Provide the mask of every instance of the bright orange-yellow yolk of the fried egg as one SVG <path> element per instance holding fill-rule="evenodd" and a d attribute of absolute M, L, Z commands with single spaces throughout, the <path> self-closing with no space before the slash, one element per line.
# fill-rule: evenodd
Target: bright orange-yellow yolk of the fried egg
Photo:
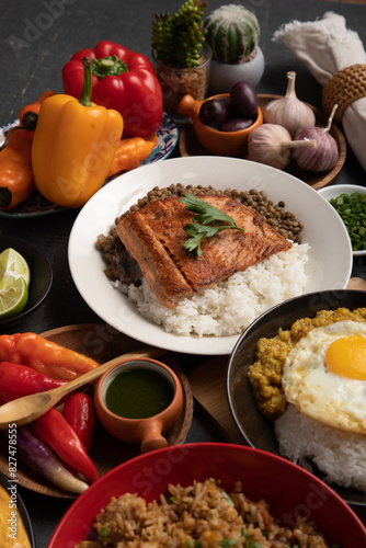
<path fill-rule="evenodd" d="M 325 366 L 336 375 L 366 380 L 366 339 L 351 335 L 332 342 L 325 352 Z"/>

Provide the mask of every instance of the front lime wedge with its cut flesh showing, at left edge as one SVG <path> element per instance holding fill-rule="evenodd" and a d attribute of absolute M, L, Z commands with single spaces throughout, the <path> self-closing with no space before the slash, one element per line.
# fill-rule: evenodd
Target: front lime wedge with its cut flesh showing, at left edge
<path fill-rule="evenodd" d="M 0 320 L 21 313 L 28 298 L 28 288 L 23 277 L 4 274 L 0 278 Z"/>

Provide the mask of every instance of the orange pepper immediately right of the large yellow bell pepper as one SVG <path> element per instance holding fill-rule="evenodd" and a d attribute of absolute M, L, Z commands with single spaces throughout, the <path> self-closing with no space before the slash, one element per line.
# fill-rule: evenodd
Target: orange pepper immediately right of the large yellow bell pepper
<path fill-rule="evenodd" d="M 108 176 L 115 175 L 119 171 L 129 171 L 137 168 L 148 158 L 157 142 L 157 134 L 152 134 L 149 139 L 142 139 L 142 137 L 122 139 L 111 165 Z"/>

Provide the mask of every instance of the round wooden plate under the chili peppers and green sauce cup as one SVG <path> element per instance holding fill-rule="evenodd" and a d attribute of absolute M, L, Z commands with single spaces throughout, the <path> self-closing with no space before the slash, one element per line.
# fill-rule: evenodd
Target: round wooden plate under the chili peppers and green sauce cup
<path fill-rule="evenodd" d="M 106 323 L 85 323 L 66 326 L 42 333 L 42 336 L 61 344 L 68 349 L 85 354 L 99 363 L 105 363 L 126 352 L 144 349 L 147 345 L 119 333 Z M 184 443 L 193 418 L 193 396 L 185 373 L 176 359 L 169 353 L 164 354 L 163 362 L 176 374 L 183 389 L 183 410 L 173 426 L 167 434 L 169 445 Z M 9 447 L 5 436 L 0 436 L 0 470 L 9 477 Z M 101 424 L 98 425 L 92 446 L 89 452 L 98 471 L 104 476 L 116 466 L 140 455 L 139 445 L 119 442 L 108 434 Z M 18 455 L 16 479 L 19 484 L 49 496 L 75 499 L 75 493 L 62 491 L 34 473 Z"/>

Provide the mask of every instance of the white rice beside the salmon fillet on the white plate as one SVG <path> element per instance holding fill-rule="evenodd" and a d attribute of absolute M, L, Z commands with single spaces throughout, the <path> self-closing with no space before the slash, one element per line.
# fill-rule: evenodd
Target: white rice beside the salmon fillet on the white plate
<path fill-rule="evenodd" d="M 161 305 L 145 278 L 139 287 L 121 289 L 137 305 L 141 316 L 167 332 L 198 336 L 240 334 L 268 308 L 304 294 L 309 249 L 308 243 L 294 243 L 290 250 L 236 273 L 172 309 Z"/>

